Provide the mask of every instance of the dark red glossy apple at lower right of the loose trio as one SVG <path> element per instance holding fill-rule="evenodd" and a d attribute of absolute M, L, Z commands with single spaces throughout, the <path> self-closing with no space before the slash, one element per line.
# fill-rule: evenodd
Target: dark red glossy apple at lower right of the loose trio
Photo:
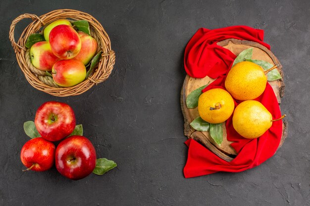
<path fill-rule="evenodd" d="M 59 143 L 55 165 L 63 176 L 78 180 L 88 176 L 96 166 L 96 151 L 84 136 L 70 136 Z"/>

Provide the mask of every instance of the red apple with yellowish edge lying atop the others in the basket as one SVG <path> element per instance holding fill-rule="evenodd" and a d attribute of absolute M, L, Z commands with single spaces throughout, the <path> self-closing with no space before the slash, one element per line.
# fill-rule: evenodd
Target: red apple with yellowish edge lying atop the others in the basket
<path fill-rule="evenodd" d="M 55 26 L 50 32 L 52 52 L 60 59 L 72 59 L 81 50 L 78 33 L 68 25 Z"/>

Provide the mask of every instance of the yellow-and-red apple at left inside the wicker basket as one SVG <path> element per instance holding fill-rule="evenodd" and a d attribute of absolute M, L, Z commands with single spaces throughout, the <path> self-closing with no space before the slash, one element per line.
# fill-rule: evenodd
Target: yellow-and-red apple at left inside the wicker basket
<path fill-rule="evenodd" d="M 30 48 L 30 59 L 32 65 L 42 71 L 51 71 L 52 66 L 59 60 L 51 49 L 49 41 L 39 41 Z"/>

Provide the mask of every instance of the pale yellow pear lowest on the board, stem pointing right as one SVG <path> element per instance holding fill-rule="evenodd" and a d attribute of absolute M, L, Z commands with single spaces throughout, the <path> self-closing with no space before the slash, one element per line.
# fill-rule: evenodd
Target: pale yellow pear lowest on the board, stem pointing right
<path fill-rule="evenodd" d="M 277 120 L 284 117 L 285 115 Z M 272 122 L 277 121 L 272 120 L 270 112 L 255 100 L 241 102 L 235 108 L 232 120 L 235 130 L 248 139 L 260 137 L 271 127 Z"/>

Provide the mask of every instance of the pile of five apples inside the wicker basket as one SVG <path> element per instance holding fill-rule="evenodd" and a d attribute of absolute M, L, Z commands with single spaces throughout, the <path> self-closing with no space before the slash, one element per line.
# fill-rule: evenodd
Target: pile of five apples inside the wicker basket
<path fill-rule="evenodd" d="M 74 86 L 86 78 L 86 67 L 97 51 L 97 41 L 90 35 L 76 31 L 70 21 L 59 19 L 44 29 L 46 41 L 30 48 L 34 67 L 52 71 L 59 86 Z"/>

